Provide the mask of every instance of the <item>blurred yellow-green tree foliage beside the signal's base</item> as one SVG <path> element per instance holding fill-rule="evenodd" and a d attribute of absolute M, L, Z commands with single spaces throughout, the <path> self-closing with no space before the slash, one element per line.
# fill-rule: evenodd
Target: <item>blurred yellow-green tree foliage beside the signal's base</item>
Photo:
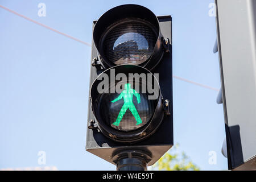
<path fill-rule="evenodd" d="M 177 152 L 177 148 L 179 148 L 179 144 L 166 152 L 152 169 L 159 171 L 199 171 L 200 168 L 189 159 L 185 152 Z"/>

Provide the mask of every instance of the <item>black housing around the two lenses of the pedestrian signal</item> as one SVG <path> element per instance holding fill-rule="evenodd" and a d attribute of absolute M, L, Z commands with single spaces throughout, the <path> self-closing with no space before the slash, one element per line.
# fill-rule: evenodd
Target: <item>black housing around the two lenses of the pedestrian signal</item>
<path fill-rule="evenodd" d="M 131 11 L 131 9 L 133 11 Z M 137 13 L 136 13 L 137 12 Z M 141 13 L 138 13 L 141 12 Z M 97 82 L 96 78 L 103 72 L 108 72 L 109 68 L 117 67 L 123 69 L 125 65 L 116 65 L 110 63 L 107 56 L 102 51 L 100 42 L 104 39 L 104 30 L 108 30 L 110 25 L 118 21 L 122 23 L 123 18 L 146 19 L 155 24 L 157 40 L 154 46 L 153 54 L 144 63 L 138 64 L 145 72 L 159 74 L 160 95 L 158 106 L 162 114 L 157 115 L 154 129 L 140 135 L 140 137 L 131 139 L 126 137 L 115 138 L 110 127 L 102 126 L 99 122 L 100 108 L 93 102 L 98 101 L 97 90 L 93 84 Z M 108 17 L 108 18 L 106 18 Z M 154 19 L 155 18 L 155 19 Z M 105 21 L 104 21 L 105 20 Z M 96 27 L 98 26 L 98 27 Z M 122 5 L 109 10 L 104 16 L 93 22 L 93 40 L 92 40 L 92 63 L 90 64 L 90 98 L 88 106 L 88 129 L 86 136 L 86 151 L 107 160 L 110 163 L 117 164 L 119 158 L 125 158 L 130 154 L 143 158 L 148 166 L 154 164 L 174 143 L 173 140 L 173 116 L 172 116 L 172 19 L 170 15 L 156 16 L 148 9 L 139 5 Z M 100 36 L 97 36 L 100 35 Z M 155 60 L 155 62 L 154 62 Z M 126 65 L 134 71 L 135 65 Z M 133 68 L 134 67 L 134 68 Z M 143 68 L 144 67 L 144 68 Z M 147 70 L 146 70 L 147 69 Z M 129 71 L 127 71 L 129 72 Z M 163 98 L 163 99 L 162 99 Z M 160 111 L 159 111 L 160 112 Z M 164 114 L 166 113 L 166 114 Z M 157 122 L 158 121 L 158 122 Z M 162 122 L 161 122 L 162 121 Z M 158 124 L 157 124 L 158 123 Z M 114 131 L 114 130 L 112 130 Z M 136 130 L 138 131 L 138 130 Z M 143 130 L 144 131 L 144 130 Z M 115 131 L 117 132 L 117 131 Z M 127 133 L 129 133 L 127 131 Z M 135 132 L 136 133 L 136 132 Z M 137 132 L 138 134 L 139 132 Z M 112 135 L 112 136 L 111 136 Z M 128 154 L 129 153 L 129 154 Z M 142 157 L 143 156 L 143 157 Z"/>

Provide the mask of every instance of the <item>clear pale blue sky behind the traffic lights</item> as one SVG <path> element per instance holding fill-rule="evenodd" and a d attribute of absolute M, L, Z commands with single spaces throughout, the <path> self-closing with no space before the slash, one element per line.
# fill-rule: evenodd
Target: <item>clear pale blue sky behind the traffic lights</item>
<path fill-rule="evenodd" d="M 46 17 L 38 4 L 46 4 Z M 136 3 L 156 15 L 172 15 L 173 73 L 220 88 L 213 0 L 4 1 L 14 10 L 84 42 L 92 21 L 114 6 Z M 71 170 L 115 170 L 85 151 L 90 47 L 0 8 L 0 168 L 35 167 L 46 151 L 46 166 Z M 217 91 L 174 78 L 174 140 L 204 170 L 227 169 Z M 217 164 L 210 165 L 209 151 Z"/>

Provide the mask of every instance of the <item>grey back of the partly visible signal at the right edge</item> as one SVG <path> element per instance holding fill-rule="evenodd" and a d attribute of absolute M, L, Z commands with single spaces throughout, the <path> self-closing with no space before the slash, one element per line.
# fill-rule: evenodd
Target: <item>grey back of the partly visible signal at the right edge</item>
<path fill-rule="evenodd" d="M 215 0 L 217 43 L 226 139 L 232 170 L 256 169 L 256 1 Z"/>

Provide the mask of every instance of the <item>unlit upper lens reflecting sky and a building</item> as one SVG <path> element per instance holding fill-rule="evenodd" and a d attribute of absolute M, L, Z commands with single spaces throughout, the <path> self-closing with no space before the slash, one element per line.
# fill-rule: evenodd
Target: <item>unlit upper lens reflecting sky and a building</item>
<path fill-rule="evenodd" d="M 152 55 L 157 35 L 139 20 L 127 20 L 106 34 L 103 49 L 106 58 L 117 65 L 141 64 Z"/>

